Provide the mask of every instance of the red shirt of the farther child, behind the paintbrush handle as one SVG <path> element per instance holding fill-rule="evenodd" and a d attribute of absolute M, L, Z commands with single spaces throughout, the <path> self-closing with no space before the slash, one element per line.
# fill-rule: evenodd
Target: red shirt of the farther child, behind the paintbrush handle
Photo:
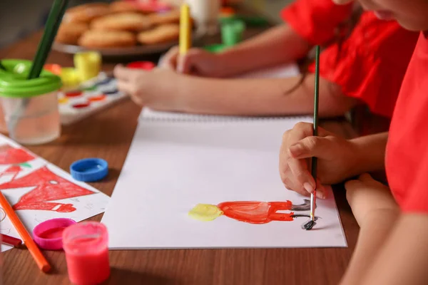
<path fill-rule="evenodd" d="M 342 86 L 345 95 L 359 98 L 373 113 L 391 118 L 418 33 L 366 11 L 339 51 L 338 27 L 351 14 L 352 4 L 335 5 L 332 0 L 297 0 L 281 12 L 309 43 L 331 43 L 320 56 L 322 78 Z M 309 71 L 315 71 L 313 64 Z"/>

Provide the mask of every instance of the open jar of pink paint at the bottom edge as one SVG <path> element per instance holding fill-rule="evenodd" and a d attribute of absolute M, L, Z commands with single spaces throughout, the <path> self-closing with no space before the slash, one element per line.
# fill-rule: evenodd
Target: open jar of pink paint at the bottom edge
<path fill-rule="evenodd" d="M 108 232 L 99 222 L 83 222 L 63 232 L 68 278 L 73 284 L 100 284 L 110 276 Z"/>

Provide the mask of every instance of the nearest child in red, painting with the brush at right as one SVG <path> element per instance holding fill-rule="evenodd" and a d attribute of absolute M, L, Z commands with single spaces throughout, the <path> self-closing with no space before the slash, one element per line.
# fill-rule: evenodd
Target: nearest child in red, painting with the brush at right
<path fill-rule="evenodd" d="M 390 190 L 367 174 L 345 184 L 360 235 L 342 284 L 428 284 L 428 1 L 360 2 L 379 19 L 422 31 L 389 136 L 343 140 L 321 129 L 315 138 L 312 125 L 300 123 L 284 135 L 280 174 L 287 187 L 307 195 L 315 187 L 322 192 L 322 185 L 386 166 Z M 317 184 L 307 169 L 306 160 L 313 156 L 320 162 Z"/>

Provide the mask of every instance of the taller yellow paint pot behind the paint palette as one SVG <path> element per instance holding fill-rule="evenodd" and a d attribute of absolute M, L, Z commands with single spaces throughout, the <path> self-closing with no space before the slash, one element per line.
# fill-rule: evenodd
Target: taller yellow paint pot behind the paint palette
<path fill-rule="evenodd" d="M 101 71 L 101 53 L 96 51 L 76 53 L 73 61 L 78 80 L 81 82 L 98 76 Z"/>

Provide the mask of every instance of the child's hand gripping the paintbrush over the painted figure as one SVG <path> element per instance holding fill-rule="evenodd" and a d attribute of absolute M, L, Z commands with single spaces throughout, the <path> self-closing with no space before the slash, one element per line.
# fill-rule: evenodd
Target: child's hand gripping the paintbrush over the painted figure
<path fill-rule="evenodd" d="M 301 195 L 309 195 L 317 187 L 317 197 L 324 198 L 323 185 L 345 180 L 357 164 L 357 147 L 344 138 L 318 129 L 312 136 L 310 123 L 298 123 L 282 136 L 280 149 L 280 176 L 285 187 Z M 317 184 L 310 173 L 310 157 L 318 157 Z"/>

